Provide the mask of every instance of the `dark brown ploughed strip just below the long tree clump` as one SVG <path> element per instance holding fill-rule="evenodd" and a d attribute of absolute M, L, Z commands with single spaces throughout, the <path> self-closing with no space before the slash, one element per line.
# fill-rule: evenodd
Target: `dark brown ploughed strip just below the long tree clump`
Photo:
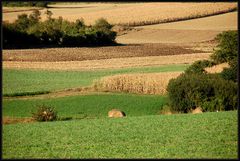
<path fill-rule="evenodd" d="M 204 53 L 188 46 L 169 44 L 131 44 L 106 47 L 45 48 L 3 50 L 3 61 L 82 61 L 127 57 L 166 56 Z"/>

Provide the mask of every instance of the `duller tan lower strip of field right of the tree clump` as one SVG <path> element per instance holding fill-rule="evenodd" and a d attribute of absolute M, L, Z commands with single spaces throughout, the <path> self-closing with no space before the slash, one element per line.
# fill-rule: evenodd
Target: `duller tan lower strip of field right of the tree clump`
<path fill-rule="evenodd" d="M 176 29 L 142 29 L 118 36 L 121 44 L 142 43 L 196 43 L 213 40 L 221 31 L 212 30 L 176 30 Z"/>

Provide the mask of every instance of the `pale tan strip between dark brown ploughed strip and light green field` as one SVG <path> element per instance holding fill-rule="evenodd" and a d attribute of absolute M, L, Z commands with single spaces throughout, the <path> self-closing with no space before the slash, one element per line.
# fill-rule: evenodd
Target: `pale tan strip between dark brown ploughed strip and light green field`
<path fill-rule="evenodd" d="M 62 62 L 3 61 L 3 68 L 42 69 L 42 70 L 118 69 L 168 64 L 190 64 L 197 60 L 209 59 L 209 56 L 211 54 L 212 53 L 194 53 L 170 56 L 150 56 L 150 57 L 116 58 L 86 61 L 62 61 Z"/>

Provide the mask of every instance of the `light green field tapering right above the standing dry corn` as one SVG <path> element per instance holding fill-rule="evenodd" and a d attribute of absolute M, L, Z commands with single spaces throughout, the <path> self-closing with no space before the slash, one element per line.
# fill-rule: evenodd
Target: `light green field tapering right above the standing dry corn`
<path fill-rule="evenodd" d="M 189 65 L 125 68 L 99 71 L 43 71 L 3 69 L 3 95 L 24 95 L 66 88 L 90 86 L 103 76 L 121 73 L 184 71 Z"/>

